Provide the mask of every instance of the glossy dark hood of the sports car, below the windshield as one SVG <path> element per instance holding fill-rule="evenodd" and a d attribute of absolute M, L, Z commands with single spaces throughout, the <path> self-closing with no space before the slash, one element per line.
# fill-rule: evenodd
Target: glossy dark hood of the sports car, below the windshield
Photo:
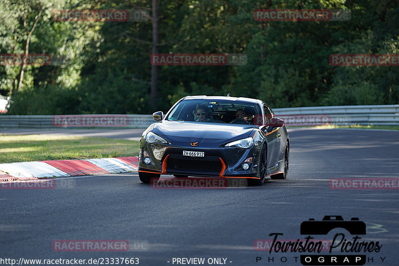
<path fill-rule="evenodd" d="M 153 124 L 151 129 L 168 140 L 173 146 L 217 147 L 230 141 L 249 137 L 255 125 L 163 121 Z M 190 146 L 191 147 L 191 146 Z"/>

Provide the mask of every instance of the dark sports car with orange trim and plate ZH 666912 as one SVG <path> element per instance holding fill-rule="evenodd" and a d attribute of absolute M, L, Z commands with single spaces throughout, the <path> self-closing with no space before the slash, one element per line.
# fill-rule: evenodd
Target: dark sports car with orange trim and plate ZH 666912
<path fill-rule="evenodd" d="M 289 138 L 284 120 L 261 100 L 187 96 L 150 125 L 141 138 L 139 177 L 245 178 L 262 185 L 266 176 L 285 179 Z"/>

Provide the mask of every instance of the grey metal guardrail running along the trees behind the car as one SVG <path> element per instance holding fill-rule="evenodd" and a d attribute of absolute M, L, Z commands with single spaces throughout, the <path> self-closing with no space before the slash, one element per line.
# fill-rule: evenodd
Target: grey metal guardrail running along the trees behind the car
<path fill-rule="evenodd" d="M 287 126 L 399 125 L 399 104 L 276 108 Z M 129 127 L 146 128 L 152 115 L 0 115 L 1 127 Z"/>

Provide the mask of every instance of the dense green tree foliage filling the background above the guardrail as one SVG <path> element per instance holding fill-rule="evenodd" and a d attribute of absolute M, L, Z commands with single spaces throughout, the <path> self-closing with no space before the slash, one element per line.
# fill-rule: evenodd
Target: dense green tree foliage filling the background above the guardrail
<path fill-rule="evenodd" d="M 11 2 L 15 4 L 10 4 Z M 30 53 L 65 56 L 27 66 L 9 114 L 153 113 L 152 21 L 57 22 L 53 9 L 133 9 L 145 0 L 2 0 L 0 51 L 21 53 L 26 30 L 44 10 Z M 350 21 L 256 21 L 255 9 L 350 9 Z M 158 106 L 186 95 L 260 98 L 272 108 L 396 104 L 399 67 L 331 66 L 330 54 L 399 54 L 399 5 L 392 0 L 159 1 L 160 53 L 245 53 L 244 66 L 160 66 Z M 0 66 L 0 94 L 19 66 Z"/>

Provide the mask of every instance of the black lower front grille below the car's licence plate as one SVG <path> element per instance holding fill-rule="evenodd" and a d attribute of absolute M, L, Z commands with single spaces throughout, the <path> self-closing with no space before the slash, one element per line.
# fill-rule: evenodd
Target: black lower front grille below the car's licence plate
<path fill-rule="evenodd" d="M 221 163 L 218 156 L 189 157 L 181 154 L 169 154 L 167 171 L 175 169 L 220 172 Z"/>

